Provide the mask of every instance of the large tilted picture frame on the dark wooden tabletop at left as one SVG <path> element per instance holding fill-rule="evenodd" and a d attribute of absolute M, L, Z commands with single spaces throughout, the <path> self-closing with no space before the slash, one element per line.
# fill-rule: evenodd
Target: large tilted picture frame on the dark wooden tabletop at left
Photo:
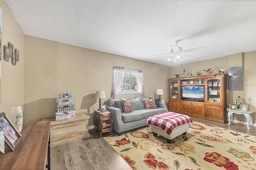
<path fill-rule="evenodd" d="M 0 113 L 0 127 L 4 131 L 4 141 L 13 151 L 22 139 L 22 135 L 4 112 Z"/>

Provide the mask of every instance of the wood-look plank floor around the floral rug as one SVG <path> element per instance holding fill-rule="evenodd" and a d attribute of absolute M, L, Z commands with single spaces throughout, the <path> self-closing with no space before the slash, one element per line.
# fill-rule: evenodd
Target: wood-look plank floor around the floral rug
<path fill-rule="evenodd" d="M 256 136 L 256 127 L 239 123 L 220 124 L 191 117 L 193 121 L 210 124 L 236 132 Z M 98 130 L 90 129 L 90 138 L 70 142 L 51 148 L 51 170 L 132 170 L 121 156 L 106 142 L 100 138 Z M 115 133 L 113 131 L 113 133 Z M 125 132 L 124 132 L 125 133 Z"/>

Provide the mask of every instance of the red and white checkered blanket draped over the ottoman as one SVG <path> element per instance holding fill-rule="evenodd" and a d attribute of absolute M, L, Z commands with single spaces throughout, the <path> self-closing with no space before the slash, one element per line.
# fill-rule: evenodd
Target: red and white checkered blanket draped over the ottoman
<path fill-rule="evenodd" d="M 174 128 L 185 123 L 192 125 L 193 121 L 186 115 L 181 115 L 174 112 L 166 112 L 149 117 L 147 123 L 148 125 L 153 125 L 163 129 L 167 134 L 170 135 Z"/>

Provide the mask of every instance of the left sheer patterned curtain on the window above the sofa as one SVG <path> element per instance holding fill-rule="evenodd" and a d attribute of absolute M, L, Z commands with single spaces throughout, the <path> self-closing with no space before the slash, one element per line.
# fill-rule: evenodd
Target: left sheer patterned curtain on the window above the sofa
<path fill-rule="evenodd" d="M 112 90 L 111 90 L 111 99 L 116 98 L 116 91 L 120 89 L 122 86 L 122 82 L 124 80 L 125 68 L 113 66 L 113 76 L 112 76 Z"/>

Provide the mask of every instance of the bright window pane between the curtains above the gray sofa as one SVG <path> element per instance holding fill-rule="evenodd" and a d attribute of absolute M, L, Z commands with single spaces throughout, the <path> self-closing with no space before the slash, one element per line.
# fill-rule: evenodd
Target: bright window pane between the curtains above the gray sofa
<path fill-rule="evenodd" d="M 116 93 L 141 93 L 141 89 L 138 88 L 135 71 L 125 71 L 122 85 Z"/>

